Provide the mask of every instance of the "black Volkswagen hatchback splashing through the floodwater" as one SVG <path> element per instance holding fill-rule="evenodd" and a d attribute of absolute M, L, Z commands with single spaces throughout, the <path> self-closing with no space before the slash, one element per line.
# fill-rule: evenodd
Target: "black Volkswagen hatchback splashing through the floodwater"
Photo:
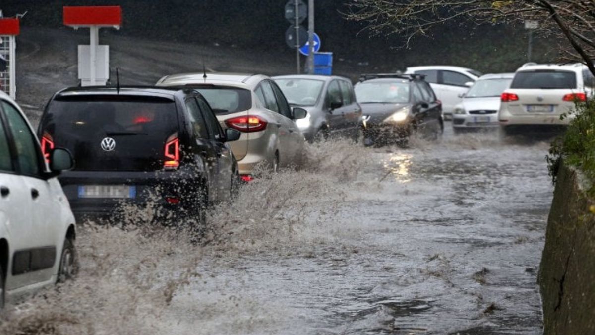
<path fill-rule="evenodd" d="M 229 199 L 239 181 L 226 144 L 239 132 L 223 132 L 192 89 L 65 89 L 46 106 L 38 135 L 44 154 L 61 147 L 74 156 L 60 182 L 79 219 L 117 221 L 142 206 L 155 218 L 202 222 L 205 206 Z"/>

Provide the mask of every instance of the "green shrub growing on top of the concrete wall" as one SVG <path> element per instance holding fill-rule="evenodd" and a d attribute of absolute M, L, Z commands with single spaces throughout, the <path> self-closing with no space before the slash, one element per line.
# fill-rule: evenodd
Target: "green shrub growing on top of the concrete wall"
<path fill-rule="evenodd" d="M 562 118 L 574 116 L 566 132 L 552 143 L 549 155 L 549 173 L 556 182 L 556 173 L 562 160 L 565 165 L 581 170 L 590 182 L 587 193 L 595 195 L 595 100 L 577 103 L 574 111 Z"/>

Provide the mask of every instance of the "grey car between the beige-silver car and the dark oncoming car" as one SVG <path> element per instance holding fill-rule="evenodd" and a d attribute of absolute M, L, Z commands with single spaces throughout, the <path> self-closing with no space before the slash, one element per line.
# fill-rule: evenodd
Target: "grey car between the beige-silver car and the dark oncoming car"
<path fill-rule="evenodd" d="M 359 138 L 362 108 L 349 79 L 339 76 L 292 75 L 273 77 L 292 106 L 308 115 L 297 126 L 308 141 L 342 135 Z"/>

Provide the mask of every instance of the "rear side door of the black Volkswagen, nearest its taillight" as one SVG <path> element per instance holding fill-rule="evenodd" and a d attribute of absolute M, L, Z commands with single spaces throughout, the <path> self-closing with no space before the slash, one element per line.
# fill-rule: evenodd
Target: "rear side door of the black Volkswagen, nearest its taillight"
<path fill-rule="evenodd" d="M 187 98 L 186 108 L 190 119 L 190 126 L 192 126 L 193 147 L 192 150 L 196 156 L 201 157 L 205 166 L 205 173 L 207 179 L 207 187 L 209 191 L 209 201 L 216 201 L 218 199 L 217 184 L 217 152 L 212 145 L 206 121 L 202 116 L 201 110 L 194 97 Z"/>

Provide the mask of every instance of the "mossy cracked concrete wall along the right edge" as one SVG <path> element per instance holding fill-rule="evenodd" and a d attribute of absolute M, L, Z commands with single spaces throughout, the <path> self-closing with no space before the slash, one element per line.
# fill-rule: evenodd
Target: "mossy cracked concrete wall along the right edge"
<path fill-rule="evenodd" d="M 562 166 L 547 222 L 539 284 L 544 334 L 595 334 L 595 203 Z"/>

